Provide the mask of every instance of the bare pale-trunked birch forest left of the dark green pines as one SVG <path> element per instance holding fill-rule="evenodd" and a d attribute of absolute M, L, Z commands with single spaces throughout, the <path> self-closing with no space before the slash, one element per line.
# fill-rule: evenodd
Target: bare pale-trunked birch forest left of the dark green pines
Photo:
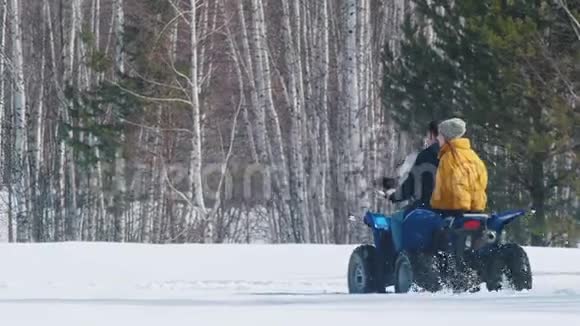
<path fill-rule="evenodd" d="M 382 95 L 410 0 L 0 4 L 8 241 L 362 241 L 422 146 Z"/>

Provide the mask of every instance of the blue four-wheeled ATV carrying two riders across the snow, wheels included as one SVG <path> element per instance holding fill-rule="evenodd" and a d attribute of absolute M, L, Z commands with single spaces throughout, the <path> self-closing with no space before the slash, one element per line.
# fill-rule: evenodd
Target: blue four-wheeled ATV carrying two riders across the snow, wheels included
<path fill-rule="evenodd" d="M 393 216 L 367 212 L 374 245 L 354 250 L 348 265 L 350 293 L 489 291 L 532 288 L 524 249 L 505 243 L 504 228 L 524 211 L 445 216 L 418 208 Z"/>

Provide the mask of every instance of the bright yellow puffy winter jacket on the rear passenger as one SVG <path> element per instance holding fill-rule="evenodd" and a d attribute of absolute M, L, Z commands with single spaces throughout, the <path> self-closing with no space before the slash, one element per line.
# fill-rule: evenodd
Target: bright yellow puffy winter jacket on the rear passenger
<path fill-rule="evenodd" d="M 453 139 L 445 144 L 439 151 L 439 160 L 431 207 L 440 210 L 485 211 L 487 169 L 471 149 L 469 139 Z"/>

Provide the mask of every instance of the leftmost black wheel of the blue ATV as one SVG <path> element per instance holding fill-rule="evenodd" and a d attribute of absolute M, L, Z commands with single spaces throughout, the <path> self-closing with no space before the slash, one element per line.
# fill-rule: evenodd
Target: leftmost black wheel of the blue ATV
<path fill-rule="evenodd" d="M 377 292 L 374 275 L 376 256 L 376 248 L 371 245 L 359 246 L 352 252 L 348 262 L 349 293 Z"/>

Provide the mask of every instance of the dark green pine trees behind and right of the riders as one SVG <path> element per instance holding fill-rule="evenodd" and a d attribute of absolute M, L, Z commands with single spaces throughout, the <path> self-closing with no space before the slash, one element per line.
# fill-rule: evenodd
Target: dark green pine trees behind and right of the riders
<path fill-rule="evenodd" d="M 576 245 L 580 2 L 417 0 L 385 105 L 402 126 L 461 116 L 492 173 L 490 206 L 535 211 L 513 232 Z M 402 105 L 405 103 L 405 105 Z"/>

